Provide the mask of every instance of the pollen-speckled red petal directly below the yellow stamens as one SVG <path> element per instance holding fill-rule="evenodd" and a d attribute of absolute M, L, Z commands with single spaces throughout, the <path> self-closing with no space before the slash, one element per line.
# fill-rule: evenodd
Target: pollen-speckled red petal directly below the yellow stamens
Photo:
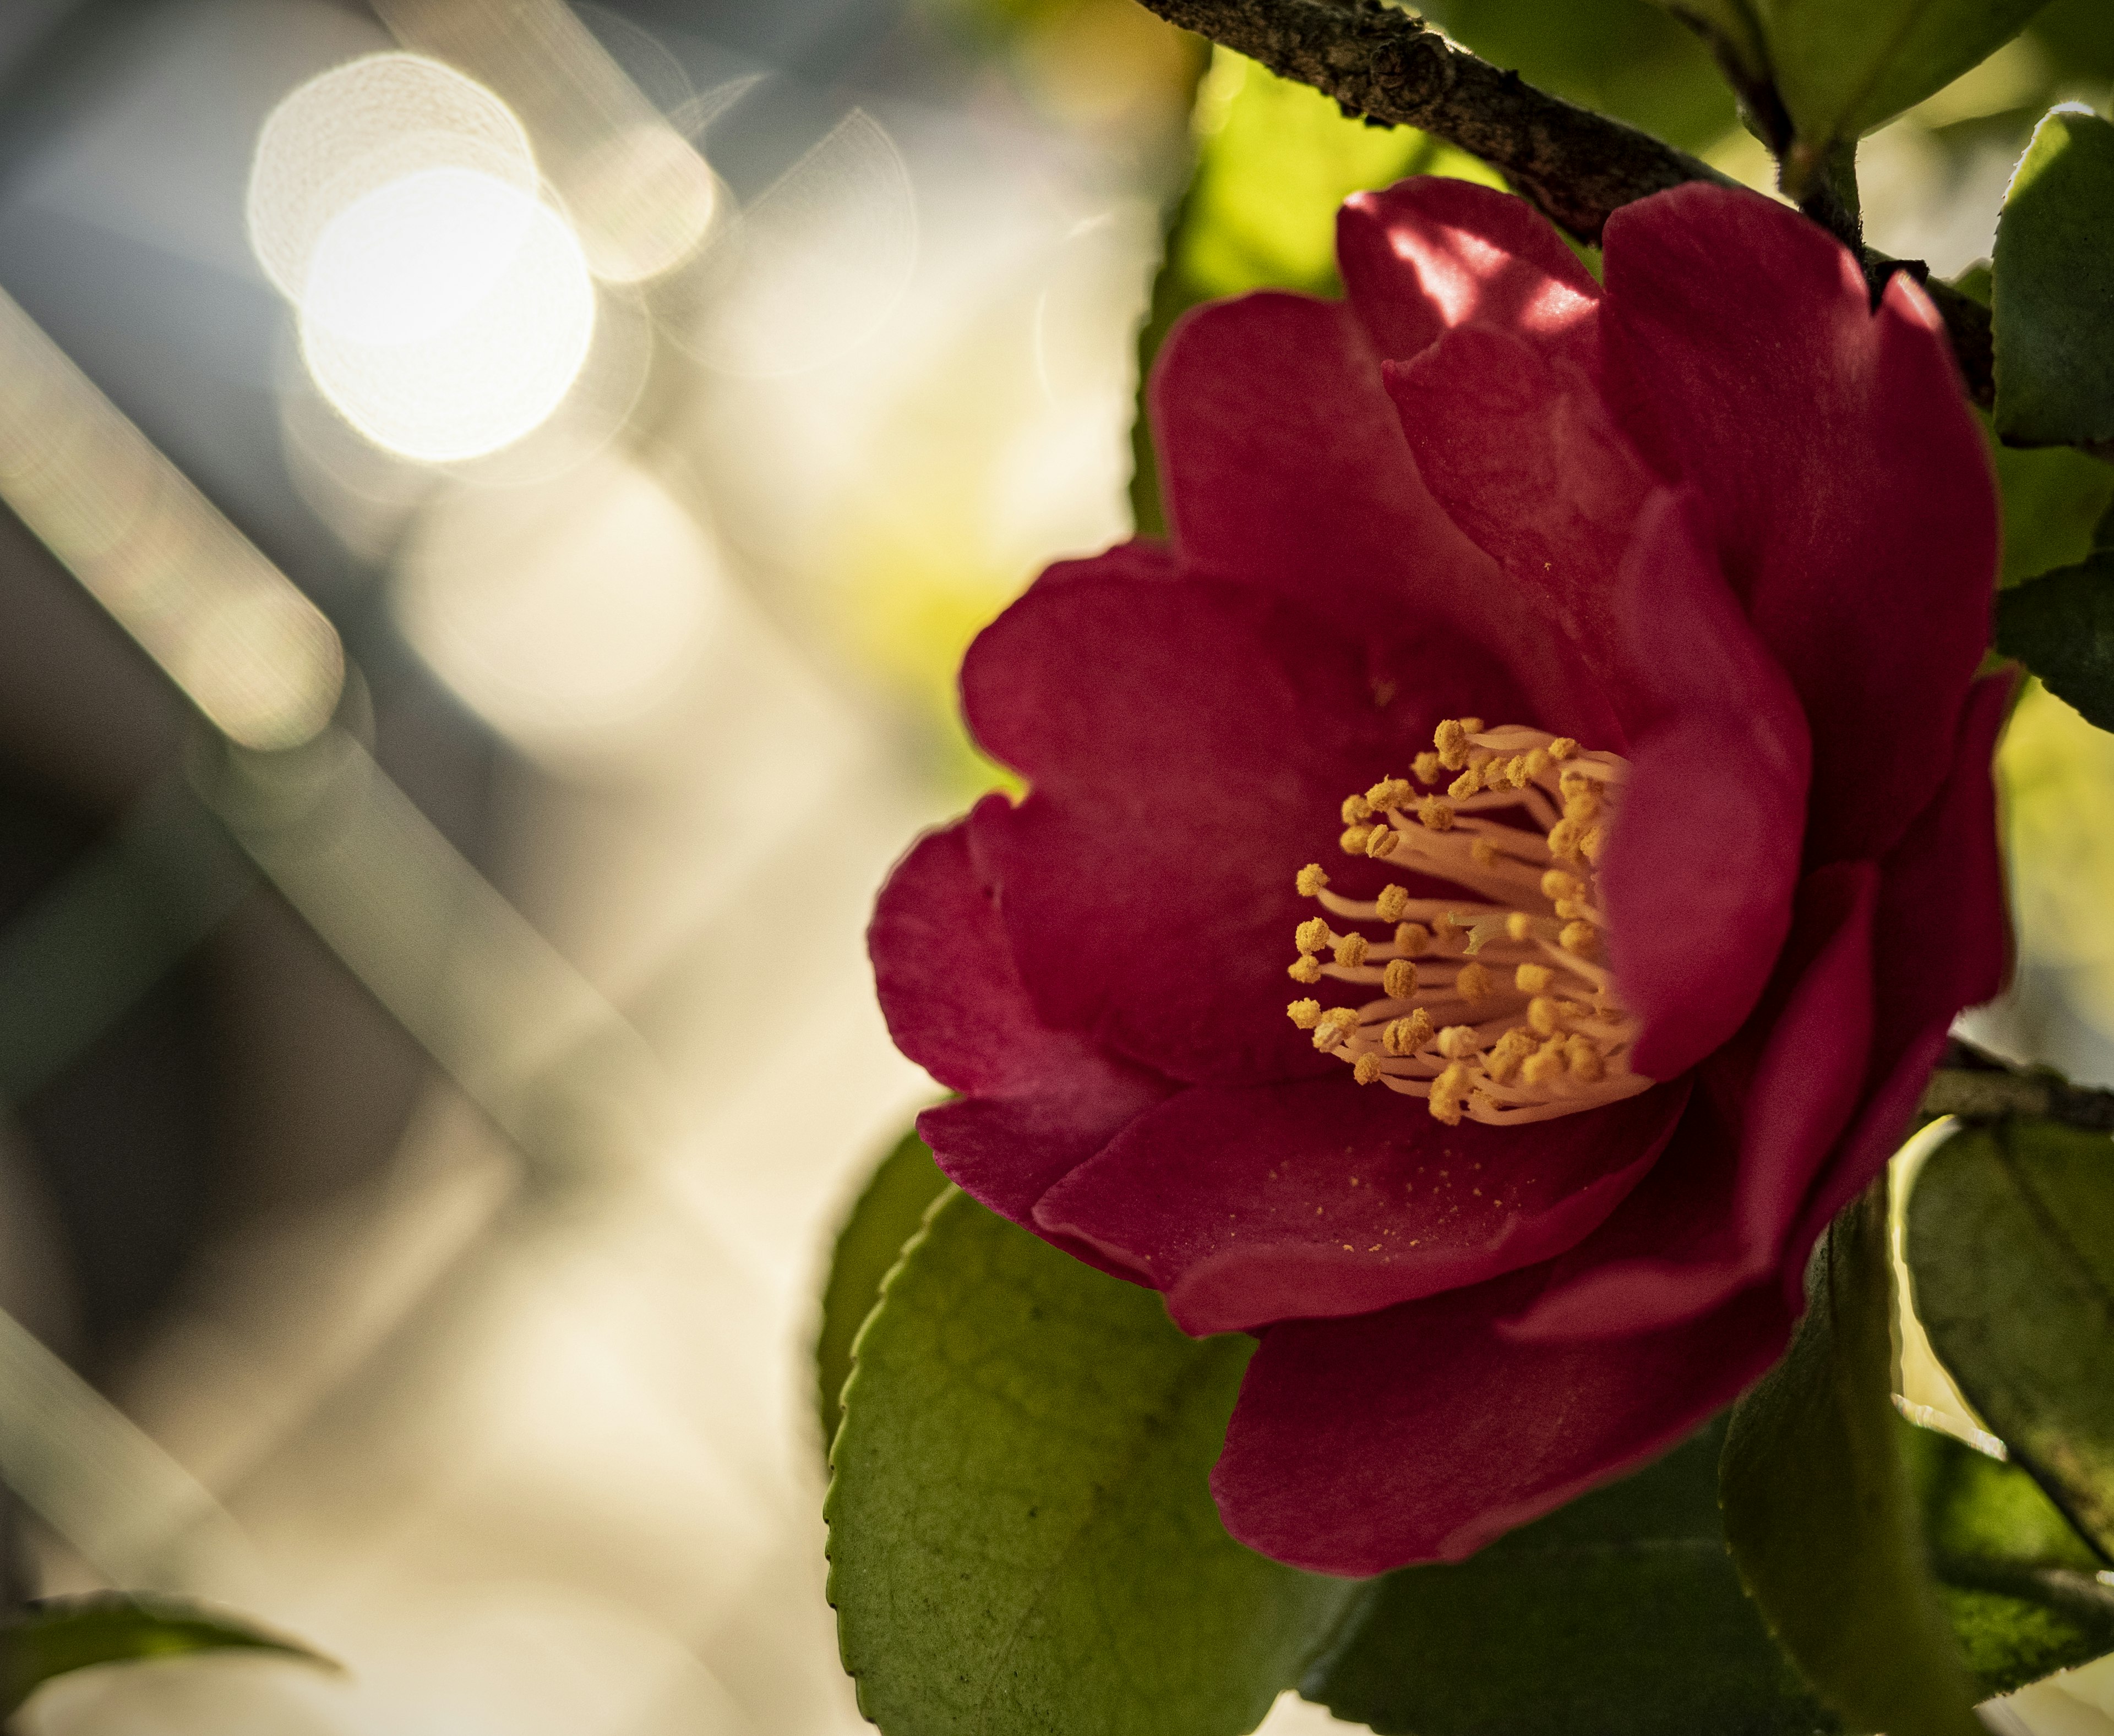
<path fill-rule="evenodd" d="M 1036 1206 L 1051 1233 L 1152 1273 L 1186 1333 L 1368 1314 L 1562 1252 L 1651 1168 L 1687 1083 L 1486 1128 L 1334 1079 L 1199 1086 Z"/>

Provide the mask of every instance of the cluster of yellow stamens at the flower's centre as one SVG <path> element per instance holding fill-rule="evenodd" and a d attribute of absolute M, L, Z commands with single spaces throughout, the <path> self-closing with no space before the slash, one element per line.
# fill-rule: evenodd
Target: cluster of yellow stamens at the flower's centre
<path fill-rule="evenodd" d="M 1347 796 L 1342 849 L 1450 881 L 1461 898 L 1389 885 L 1361 902 L 1306 864 L 1300 895 L 1328 917 L 1300 923 L 1292 978 L 1378 984 L 1380 999 L 1294 1001 L 1292 1022 L 1357 1083 L 1421 1096 L 1448 1126 L 1463 1115 L 1499 1128 L 1547 1121 L 1649 1090 L 1630 1071 L 1636 1018 L 1600 963 L 1600 847 L 1630 762 L 1482 718 L 1448 718 L 1433 743 L 1414 773 L 1446 794 L 1383 777 Z M 1492 811 L 1509 815 L 1486 819 Z M 1366 925 L 1387 925 L 1385 938 Z"/>

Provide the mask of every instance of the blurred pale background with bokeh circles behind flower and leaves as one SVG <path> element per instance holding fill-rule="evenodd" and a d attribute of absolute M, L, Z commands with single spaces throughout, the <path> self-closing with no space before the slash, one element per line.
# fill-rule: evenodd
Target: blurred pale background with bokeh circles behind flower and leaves
<path fill-rule="evenodd" d="M 1645 0 L 1431 11 L 1767 184 Z M 1867 144 L 1871 239 L 1970 268 L 2110 89 L 2057 0 Z M 1131 0 L 0 8 L 0 1578 L 349 1666 L 25 1730 L 860 1728 L 814 1297 L 932 1096 L 863 925 L 991 777 L 968 636 L 1133 524 L 1199 152 L 1184 294 L 1476 173 Z M 2002 465 L 2008 574 L 2076 560 L 2114 471 Z M 1977 1031 L 2114 1081 L 2114 743 L 2029 693 L 2004 775 Z"/>

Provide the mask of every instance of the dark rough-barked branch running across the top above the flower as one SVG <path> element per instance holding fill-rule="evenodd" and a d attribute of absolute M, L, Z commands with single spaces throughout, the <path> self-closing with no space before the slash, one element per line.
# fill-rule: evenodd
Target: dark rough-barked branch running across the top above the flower
<path fill-rule="evenodd" d="M 1383 0 L 1142 0 L 1271 72 L 1313 84 L 1345 114 L 1416 127 L 1480 156 L 1558 228 L 1598 243 L 1609 215 L 1634 199 L 1681 186 L 1733 186 L 1702 158 L 1674 150 L 1562 97 L 1537 91 Z M 1896 268 L 1865 253 L 1875 283 Z M 1994 397 L 1989 310 L 1941 283 L 1924 285 L 1945 319 L 1977 403 Z"/>

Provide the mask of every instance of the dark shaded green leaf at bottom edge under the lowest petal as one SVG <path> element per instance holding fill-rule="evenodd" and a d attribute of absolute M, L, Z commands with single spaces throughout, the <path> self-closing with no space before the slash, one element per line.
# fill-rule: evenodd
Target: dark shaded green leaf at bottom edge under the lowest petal
<path fill-rule="evenodd" d="M 1740 1590 L 1725 1421 L 1452 1567 L 1380 1580 L 1300 1692 L 1383 1736 L 1835 1730 Z"/>

